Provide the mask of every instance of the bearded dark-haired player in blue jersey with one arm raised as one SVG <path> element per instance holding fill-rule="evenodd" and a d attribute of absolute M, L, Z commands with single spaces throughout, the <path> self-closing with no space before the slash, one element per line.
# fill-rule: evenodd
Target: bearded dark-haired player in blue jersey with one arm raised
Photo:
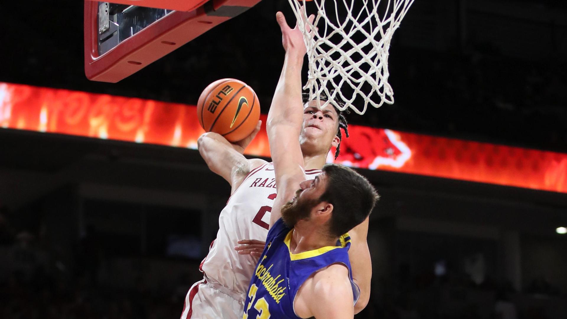
<path fill-rule="evenodd" d="M 300 146 L 306 48 L 297 26 L 291 29 L 281 12 L 277 20 L 286 55 L 267 131 L 278 193 L 243 318 L 353 318 L 359 290 L 345 233 L 367 220 L 378 194 L 342 165 L 327 164 L 315 179 L 306 177 Z"/>

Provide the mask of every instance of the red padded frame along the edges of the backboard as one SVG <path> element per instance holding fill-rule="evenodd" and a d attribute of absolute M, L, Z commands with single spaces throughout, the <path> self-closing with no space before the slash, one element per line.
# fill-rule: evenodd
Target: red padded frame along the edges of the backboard
<path fill-rule="evenodd" d="M 185 1 L 185 5 L 199 6 L 191 11 L 175 11 L 164 16 L 100 56 L 97 40 L 98 2 L 84 1 L 84 73 L 92 81 L 116 83 L 260 1 Z M 139 6 L 142 2 L 147 5 L 151 0 L 118 2 L 131 2 Z M 181 2 L 161 1 L 164 5 Z"/>

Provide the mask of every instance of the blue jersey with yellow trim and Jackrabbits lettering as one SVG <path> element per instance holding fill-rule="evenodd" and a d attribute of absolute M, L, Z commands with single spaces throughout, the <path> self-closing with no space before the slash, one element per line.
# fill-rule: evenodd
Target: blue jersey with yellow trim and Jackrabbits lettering
<path fill-rule="evenodd" d="M 282 219 L 270 228 L 266 246 L 250 280 L 243 319 L 299 318 L 293 309 L 295 294 L 315 271 L 333 263 L 343 263 L 349 269 L 353 304 L 358 300 L 360 293 L 352 279 L 348 255 L 349 235 L 341 236 L 336 246 L 292 254 L 289 248 L 291 230 Z"/>

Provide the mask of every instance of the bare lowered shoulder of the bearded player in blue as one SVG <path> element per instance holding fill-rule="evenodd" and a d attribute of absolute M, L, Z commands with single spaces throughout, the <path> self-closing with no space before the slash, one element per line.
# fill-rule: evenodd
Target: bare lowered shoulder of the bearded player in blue
<path fill-rule="evenodd" d="M 307 297 L 307 307 L 317 319 L 354 318 L 353 291 L 350 286 L 348 269 L 335 264 L 318 272 Z"/>

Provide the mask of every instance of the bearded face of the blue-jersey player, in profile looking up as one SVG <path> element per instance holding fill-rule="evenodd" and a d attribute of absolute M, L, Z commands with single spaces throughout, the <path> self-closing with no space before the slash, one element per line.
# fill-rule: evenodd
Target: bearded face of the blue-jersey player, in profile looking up
<path fill-rule="evenodd" d="M 311 211 L 321 203 L 321 195 L 325 192 L 327 175 L 318 175 L 315 179 L 303 181 L 294 198 L 281 209 L 282 218 L 287 226 L 293 227 L 298 221 L 308 219 Z"/>

